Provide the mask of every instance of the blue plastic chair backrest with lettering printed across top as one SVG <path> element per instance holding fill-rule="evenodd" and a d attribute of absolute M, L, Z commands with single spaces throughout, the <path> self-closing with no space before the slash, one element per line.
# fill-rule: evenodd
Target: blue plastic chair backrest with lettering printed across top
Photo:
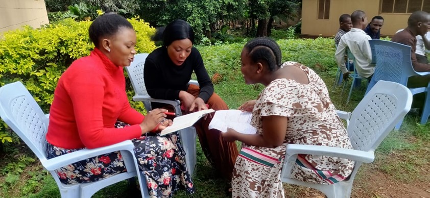
<path fill-rule="evenodd" d="M 408 78 L 416 75 L 411 62 L 411 46 L 385 40 L 369 40 L 375 57 L 372 81 L 391 81 L 407 85 Z"/>

